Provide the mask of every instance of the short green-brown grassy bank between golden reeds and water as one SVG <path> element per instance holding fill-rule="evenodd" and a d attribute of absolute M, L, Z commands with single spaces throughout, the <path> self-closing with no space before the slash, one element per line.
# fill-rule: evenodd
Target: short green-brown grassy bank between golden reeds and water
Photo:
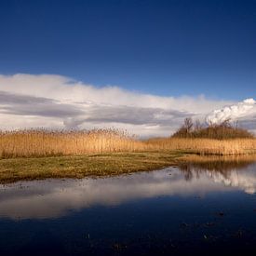
<path fill-rule="evenodd" d="M 180 156 L 147 152 L 1 159 L 0 182 L 119 175 L 177 165 Z"/>

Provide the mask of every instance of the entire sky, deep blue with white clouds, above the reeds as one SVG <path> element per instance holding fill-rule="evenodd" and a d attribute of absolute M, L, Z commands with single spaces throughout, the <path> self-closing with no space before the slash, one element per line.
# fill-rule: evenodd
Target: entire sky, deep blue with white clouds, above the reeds
<path fill-rule="evenodd" d="M 255 0 L 2 0 L 0 128 L 168 135 L 242 104 L 254 130 L 255 27 Z"/>

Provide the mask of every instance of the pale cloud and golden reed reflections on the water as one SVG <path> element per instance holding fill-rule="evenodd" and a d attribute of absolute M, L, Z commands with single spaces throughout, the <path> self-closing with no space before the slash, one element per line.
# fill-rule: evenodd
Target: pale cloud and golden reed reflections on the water
<path fill-rule="evenodd" d="M 44 219 L 94 206 L 118 206 L 156 196 L 206 196 L 256 191 L 254 156 L 187 158 L 165 168 L 106 179 L 46 180 L 0 186 L 0 218 Z"/>

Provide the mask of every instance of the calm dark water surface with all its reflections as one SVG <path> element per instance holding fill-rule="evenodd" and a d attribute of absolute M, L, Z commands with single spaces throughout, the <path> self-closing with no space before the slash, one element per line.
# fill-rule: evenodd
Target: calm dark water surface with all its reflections
<path fill-rule="evenodd" d="M 255 193 L 237 159 L 1 185 L 0 255 L 255 255 Z"/>

